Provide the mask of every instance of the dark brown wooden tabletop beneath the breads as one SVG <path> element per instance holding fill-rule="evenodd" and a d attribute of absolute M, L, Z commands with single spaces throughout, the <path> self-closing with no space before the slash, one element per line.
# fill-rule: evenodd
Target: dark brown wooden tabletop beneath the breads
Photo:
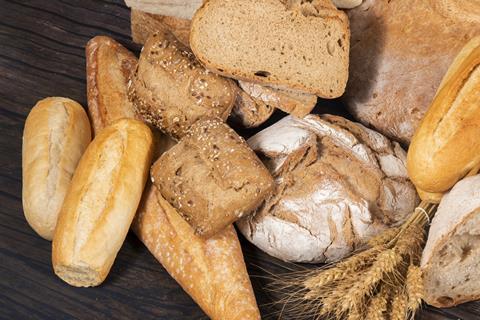
<path fill-rule="evenodd" d="M 109 35 L 130 40 L 121 0 L 0 0 L 0 319 L 205 319 L 135 236 L 129 235 L 100 287 L 73 288 L 52 271 L 50 242 L 26 223 L 21 201 L 25 118 L 37 100 L 65 96 L 86 105 L 86 42 Z M 282 264 L 242 239 L 264 317 L 276 310 L 262 288 L 265 271 Z M 419 319 L 480 319 L 480 303 L 425 307 Z"/>

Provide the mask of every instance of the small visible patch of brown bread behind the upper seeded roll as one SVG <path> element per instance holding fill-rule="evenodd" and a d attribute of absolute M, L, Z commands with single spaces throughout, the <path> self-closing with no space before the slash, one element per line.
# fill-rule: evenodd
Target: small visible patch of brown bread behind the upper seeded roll
<path fill-rule="evenodd" d="M 136 43 L 144 44 L 148 37 L 158 31 L 167 28 L 184 45 L 189 45 L 191 21 L 159 14 L 147 13 L 132 9 L 130 25 L 132 39 Z"/>

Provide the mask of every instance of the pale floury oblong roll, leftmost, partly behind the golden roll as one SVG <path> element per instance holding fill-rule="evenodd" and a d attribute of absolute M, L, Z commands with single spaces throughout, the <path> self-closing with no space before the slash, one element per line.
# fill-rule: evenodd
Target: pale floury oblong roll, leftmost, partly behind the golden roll
<path fill-rule="evenodd" d="M 53 238 L 73 172 L 90 139 L 87 114 L 67 98 L 40 100 L 25 121 L 23 211 L 30 226 L 47 240 Z"/>

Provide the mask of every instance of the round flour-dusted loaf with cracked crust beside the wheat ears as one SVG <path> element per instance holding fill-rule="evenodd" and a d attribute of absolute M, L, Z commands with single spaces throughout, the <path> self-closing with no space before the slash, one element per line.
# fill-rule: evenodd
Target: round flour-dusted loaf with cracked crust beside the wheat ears
<path fill-rule="evenodd" d="M 396 142 L 341 117 L 285 117 L 250 138 L 276 190 L 237 225 L 285 261 L 343 258 L 418 202 Z"/>

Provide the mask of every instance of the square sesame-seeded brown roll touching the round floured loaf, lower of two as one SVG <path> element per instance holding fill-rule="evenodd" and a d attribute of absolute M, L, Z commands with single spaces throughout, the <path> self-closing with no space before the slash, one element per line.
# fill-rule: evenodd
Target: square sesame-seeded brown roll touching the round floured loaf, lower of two
<path fill-rule="evenodd" d="M 205 238 L 251 213 L 273 180 L 246 142 L 220 119 L 196 122 L 152 167 L 152 180 Z"/>

